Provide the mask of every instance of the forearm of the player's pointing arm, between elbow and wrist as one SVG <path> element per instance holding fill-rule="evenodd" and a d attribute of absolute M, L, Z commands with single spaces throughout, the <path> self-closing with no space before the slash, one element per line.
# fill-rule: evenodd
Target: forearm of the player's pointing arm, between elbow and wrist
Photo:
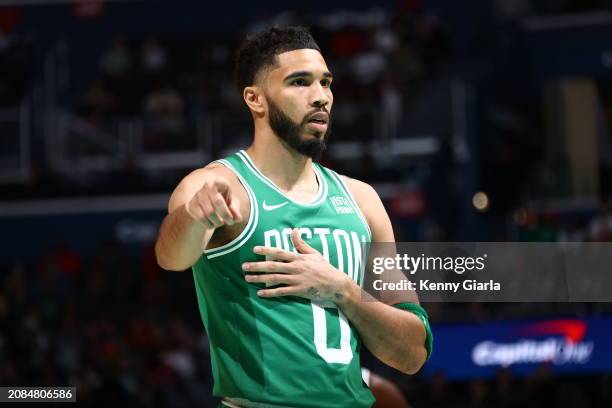
<path fill-rule="evenodd" d="M 193 265 L 202 254 L 205 234 L 212 231 L 194 220 L 180 206 L 164 218 L 155 243 L 157 263 L 164 269 L 182 271 Z"/>

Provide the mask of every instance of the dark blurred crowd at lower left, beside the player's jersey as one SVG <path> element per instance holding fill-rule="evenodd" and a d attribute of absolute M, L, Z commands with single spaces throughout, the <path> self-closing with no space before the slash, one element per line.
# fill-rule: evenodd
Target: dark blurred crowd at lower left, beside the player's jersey
<path fill-rule="evenodd" d="M 191 274 L 161 273 L 149 258 L 58 245 L 3 265 L 0 384 L 70 384 L 100 407 L 213 406 Z"/>

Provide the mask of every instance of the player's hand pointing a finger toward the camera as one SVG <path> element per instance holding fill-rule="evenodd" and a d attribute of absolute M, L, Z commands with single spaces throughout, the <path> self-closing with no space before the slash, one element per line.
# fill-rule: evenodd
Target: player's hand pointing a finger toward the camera
<path fill-rule="evenodd" d="M 242 221 L 238 197 L 232 194 L 229 181 L 222 176 L 204 183 L 185 208 L 193 219 L 210 229 Z"/>

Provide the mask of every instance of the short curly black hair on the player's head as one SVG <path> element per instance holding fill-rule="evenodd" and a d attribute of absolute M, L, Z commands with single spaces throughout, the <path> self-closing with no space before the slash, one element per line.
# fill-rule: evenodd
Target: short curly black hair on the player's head
<path fill-rule="evenodd" d="M 306 27 L 271 27 L 247 36 L 236 53 L 234 79 L 238 89 L 253 85 L 262 68 L 276 64 L 276 55 L 305 48 L 321 52 Z"/>

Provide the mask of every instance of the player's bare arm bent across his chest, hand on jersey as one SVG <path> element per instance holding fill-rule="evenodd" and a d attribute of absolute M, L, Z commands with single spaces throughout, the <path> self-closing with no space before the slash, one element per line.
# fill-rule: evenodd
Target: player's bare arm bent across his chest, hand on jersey
<path fill-rule="evenodd" d="M 395 241 L 389 216 L 369 185 L 347 179 L 370 229 L 373 242 Z M 245 279 L 251 283 L 283 284 L 273 289 L 262 289 L 259 296 L 301 296 L 312 300 L 333 301 L 359 332 L 365 346 L 385 364 L 404 373 L 417 372 L 426 360 L 426 332 L 423 322 L 414 314 L 396 309 L 389 304 L 416 302 L 414 294 L 405 293 L 382 302 L 363 301 L 366 294 L 346 274 L 333 267 L 315 249 L 304 242 L 298 229 L 292 241 L 298 254 L 276 248 L 257 246 L 254 252 L 276 261 L 245 263 Z"/>

